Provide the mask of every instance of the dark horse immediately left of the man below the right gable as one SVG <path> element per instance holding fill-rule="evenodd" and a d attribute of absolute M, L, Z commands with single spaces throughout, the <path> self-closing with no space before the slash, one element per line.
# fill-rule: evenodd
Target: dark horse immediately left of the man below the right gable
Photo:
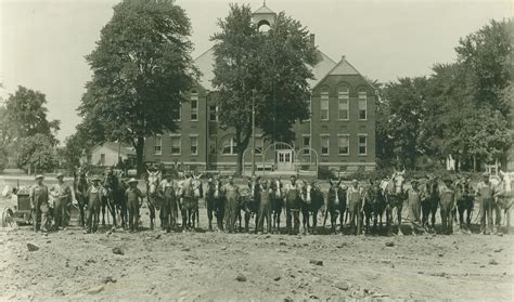
<path fill-rule="evenodd" d="M 329 180 L 330 188 L 326 197 L 326 209 L 323 219 L 323 227 L 326 224 L 326 216 L 330 213 L 331 231 L 336 233 L 337 216 L 339 216 L 339 232 L 343 233 L 344 218 L 346 211 L 346 187 L 340 185 L 340 181 Z"/>

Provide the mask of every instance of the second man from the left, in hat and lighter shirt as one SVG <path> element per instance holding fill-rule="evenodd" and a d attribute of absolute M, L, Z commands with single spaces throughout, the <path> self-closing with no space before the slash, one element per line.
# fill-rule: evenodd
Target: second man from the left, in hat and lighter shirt
<path fill-rule="evenodd" d="M 57 173 L 57 183 L 50 188 L 53 197 L 53 215 L 55 219 L 55 229 L 65 228 L 69 222 L 68 206 L 72 201 L 72 188 L 64 182 L 64 174 Z"/>

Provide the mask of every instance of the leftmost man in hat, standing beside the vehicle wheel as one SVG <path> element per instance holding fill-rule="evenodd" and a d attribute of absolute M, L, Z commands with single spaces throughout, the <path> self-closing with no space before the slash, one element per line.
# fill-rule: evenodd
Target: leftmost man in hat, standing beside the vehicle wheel
<path fill-rule="evenodd" d="M 36 175 L 36 184 L 30 188 L 29 199 L 34 210 L 34 232 L 48 232 L 48 187 L 42 183 L 43 175 Z"/>

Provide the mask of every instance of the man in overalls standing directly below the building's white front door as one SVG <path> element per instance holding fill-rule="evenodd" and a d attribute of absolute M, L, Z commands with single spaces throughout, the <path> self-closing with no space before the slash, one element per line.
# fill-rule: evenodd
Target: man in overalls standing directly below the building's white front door
<path fill-rule="evenodd" d="M 296 175 L 292 175 L 291 184 L 285 187 L 285 224 L 290 235 L 299 233 L 300 193 L 301 186 L 296 182 Z"/>

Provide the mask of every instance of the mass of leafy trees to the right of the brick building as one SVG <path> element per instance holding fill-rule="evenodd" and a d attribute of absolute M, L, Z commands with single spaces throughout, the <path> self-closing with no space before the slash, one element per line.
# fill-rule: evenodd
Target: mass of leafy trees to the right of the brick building
<path fill-rule="evenodd" d="M 505 155 L 512 144 L 513 29 L 511 19 L 491 21 L 460 39 L 457 62 L 435 64 L 427 78 L 385 84 L 377 132 L 393 144 L 377 153 L 389 157 L 383 162 L 393 156 L 440 161 L 452 156 L 461 167 L 476 169 Z M 407 166 L 414 168 L 415 160 Z"/>

